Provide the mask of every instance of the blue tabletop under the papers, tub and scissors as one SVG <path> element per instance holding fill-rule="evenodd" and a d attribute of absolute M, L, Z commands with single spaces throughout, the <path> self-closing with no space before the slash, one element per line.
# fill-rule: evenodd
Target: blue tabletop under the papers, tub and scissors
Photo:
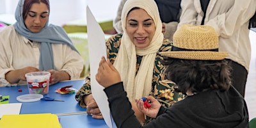
<path fill-rule="evenodd" d="M 73 85 L 72 88 L 79 90 L 84 84 L 84 79 L 74 80 L 74 81 L 61 81 L 60 83 L 49 86 L 49 93 L 45 94 L 44 97 L 52 97 L 54 99 L 64 100 L 65 102 L 58 101 L 36 101 L 36 102 L 22 102 L 22 107 L 20 109 L 20 114 L 34 114 L 34 113 L 74 113 L 77 111 L 86 111 L 86 108 L 82 108 L 77 104 L 74 94 L 61 95 L 56 93 L 55 90 L 67 85 Z M 22 92 L 18 92 L 21 89 Z M 28 86 L 11 86 L 11 87 L 1 87 L 1 95 L 9 95 L 10 103 L 19 102 L 16 97 L 19 95 L 28 94 Z M 87 114 L 80 115 L 65 115 L 59 116 L 60 124 L 63 128 L 70 127 L 108 127 L 104 120 L 99 120 L 92 118 L 92 116 Z"/>

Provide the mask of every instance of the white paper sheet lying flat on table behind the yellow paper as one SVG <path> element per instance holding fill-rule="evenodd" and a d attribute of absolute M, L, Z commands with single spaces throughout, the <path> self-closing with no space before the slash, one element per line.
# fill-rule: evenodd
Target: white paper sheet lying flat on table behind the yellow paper
<path fill-rule="evenodd" d="M 3 115 L 19 115 L 22 103 L 0 104 L 0 118 Z"/>

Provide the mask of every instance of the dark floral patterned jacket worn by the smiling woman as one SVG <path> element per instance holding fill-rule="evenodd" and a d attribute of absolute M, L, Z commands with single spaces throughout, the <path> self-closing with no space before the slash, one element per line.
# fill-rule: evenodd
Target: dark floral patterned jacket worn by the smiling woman
<path fill-rule="evenodd" d="M 113 64 L 116 55 L 118 54 L 118 50 L 120 47 L 120 42 L 122 39 L 122 34 L 116 34 L 111 36 L 111 38 L 108 39 L 106 42 L 107 47 L 107 56 L 111 63 Z M 168 108 L 173 103 L 184 99 L 184 95 L 182 93 L 177 93 L 174 90 L 175 83 L 172 81 L 169 81 L 167 79 L 164 79 L 164 66 L 161 64 L 161 61 L 163 59 L 163 56 L 159 54 L 159 52 L 163 51 L 170 51 L 172 47 L 172 43 L 168 39 L 163 40 L 163 45 L 160 47 L 159 51 L 156 55 L 156 61 L 155 61 L 155 67 L 152 74 L 152 92 L 150 95 L 152 95 L 155 99 L 157 99 L 162 106 Z M 140 68 L 140 63 L 142 60 L 142 56 L 137 56 L 137 72 Z M 79 105 L 82 107 L 86 107 L 86 104 L 84 104 L 84 96 L 89 95 L 92 93 L 91 87 L 90 87 L 90 75 L 86 76 L 86 82 L 83 84 L 83 86 L 80 88 L 80 90 L 76 93 L 76 100 L 79 102 Z"/>

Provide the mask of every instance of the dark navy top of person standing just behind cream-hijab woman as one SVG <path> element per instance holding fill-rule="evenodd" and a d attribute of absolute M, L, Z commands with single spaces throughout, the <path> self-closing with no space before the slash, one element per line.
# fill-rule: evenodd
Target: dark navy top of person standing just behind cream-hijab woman
<path fill-rule="evenodd" d="M 162 22 L 179 22 L 180 0 L 155 0 Z"/>

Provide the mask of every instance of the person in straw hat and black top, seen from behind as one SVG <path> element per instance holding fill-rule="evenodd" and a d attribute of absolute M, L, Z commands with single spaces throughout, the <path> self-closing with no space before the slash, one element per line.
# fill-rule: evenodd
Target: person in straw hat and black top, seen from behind
<path fill-rule="evenodd" d="M 183 25 L 173 35 L 172 51 L 161 52 L 166 77 L 187 97 L 163 108 L 151 96 L 150 108 L 136 99 L 145 115 L 155 118 L 141 126 L 131 109 L 120 75 L 102 58 L 96 79 L 104 86 L 111 115 L 117 127 L 248 127 L 248 110 L 243 97 L 231 85 L 227 52 L 218 51 L 218 35 L 211 26 Z M 118 79 L 117 79 L 118 78 Z"/>

